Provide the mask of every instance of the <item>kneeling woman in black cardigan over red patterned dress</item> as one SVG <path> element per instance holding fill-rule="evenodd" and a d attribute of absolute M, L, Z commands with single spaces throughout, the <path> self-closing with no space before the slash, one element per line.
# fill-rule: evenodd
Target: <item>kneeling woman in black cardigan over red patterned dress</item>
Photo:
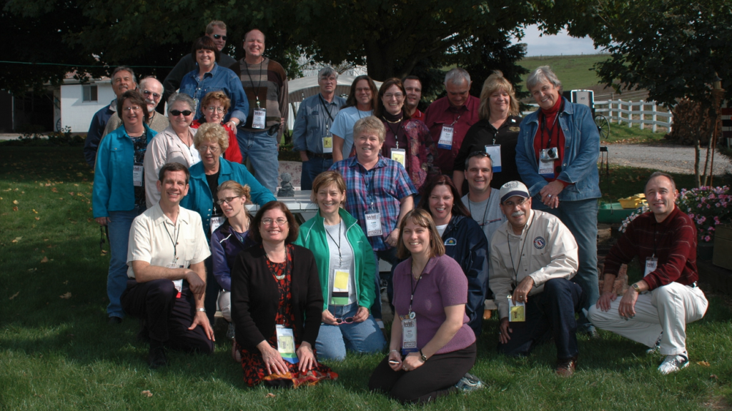
<path fill-rule="evenodd" d="M 315 360 L 323 293 L 313 253 L 291 244 L 297 234 L 287 206 L 266 203 L 250 227 L 257 244 L 239 253 L 231 271 L 231 317 L 250 386 L 298 387 L 338 377 Z"/>

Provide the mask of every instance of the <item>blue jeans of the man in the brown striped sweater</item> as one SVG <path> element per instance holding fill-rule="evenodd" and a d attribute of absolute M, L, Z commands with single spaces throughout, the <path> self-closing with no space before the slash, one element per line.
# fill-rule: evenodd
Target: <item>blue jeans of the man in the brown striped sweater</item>
<path fill-rule="evenodd" d="M 242 162 L 246 162 L 249 157 L 254 167 L 254 177 L 275 194 L 280 170 L 280 163 L 277 161 L 277 133 L 270 135 L 267 130 L 247 132 L 236 129 L 236 141 L 242 151 Z"/>

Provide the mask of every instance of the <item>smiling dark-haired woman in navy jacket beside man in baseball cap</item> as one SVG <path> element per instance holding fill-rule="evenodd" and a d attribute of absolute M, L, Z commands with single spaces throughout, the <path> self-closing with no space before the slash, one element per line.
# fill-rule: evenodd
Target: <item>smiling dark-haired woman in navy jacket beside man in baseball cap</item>
<path fill-rule="evenodd" d="M 460 201 L 458 189 L 447 176 L 436 176 L 424 186 L 419 208 L 429 211 L 445 246 L 445 254 L 463 268 L 468 277 L 468 325 L 480 335 L 485 298 L 488 295 L 488 240 Z"/>

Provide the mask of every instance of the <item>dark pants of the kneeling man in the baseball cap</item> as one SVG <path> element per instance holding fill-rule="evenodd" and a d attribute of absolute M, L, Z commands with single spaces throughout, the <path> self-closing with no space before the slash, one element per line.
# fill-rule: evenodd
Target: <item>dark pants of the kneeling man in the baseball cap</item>
<path fill-rule="evenodd" d="M 498 351 L 507 355 L 529 355 L 538 344 L 554 337 L 556 356 L 566 360 L 578 354 L 575 312 L 582 309 L 582 287 L 566 279 L 550 279 L 544 291 L 529 295 L 526 321 L 509 323 L 512 330 L 507 344 L 498 343 Z"/>

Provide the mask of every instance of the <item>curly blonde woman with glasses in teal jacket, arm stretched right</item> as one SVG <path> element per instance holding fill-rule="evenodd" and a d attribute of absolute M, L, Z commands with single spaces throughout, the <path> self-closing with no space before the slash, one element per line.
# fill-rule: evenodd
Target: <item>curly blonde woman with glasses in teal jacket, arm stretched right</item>
<path fill-rule="evenodd" d="M 188 195 L 183 197 L 181 206 L 201 214 L 203 232 L 206 233 L 208 241 L 211 241 L 211 233 L 226 219 L 217 196 L 219 184 L 224 181 L 234 180 L 242 186 L 249 185 L 252 189 L 252 201 L 260 206 L 275 201 L 275 196 L 259 184 L 247 167 L 221 157 L 221 154 L 228 148 L 228 132 L 221 124 L 202 124 L 193 137 L 193 146 L 201 154 L 201 162 L 190 167 L 190 188 Z M 214 198 L 217 200 L 214 201 Z M 206 273 L 208 273 L 203 306 L 209 317 L 209 323 L 213 324 L 220 287 L 213 276 L 211 257 L 206 258 L 203 263 L 206 265 Z"/>

